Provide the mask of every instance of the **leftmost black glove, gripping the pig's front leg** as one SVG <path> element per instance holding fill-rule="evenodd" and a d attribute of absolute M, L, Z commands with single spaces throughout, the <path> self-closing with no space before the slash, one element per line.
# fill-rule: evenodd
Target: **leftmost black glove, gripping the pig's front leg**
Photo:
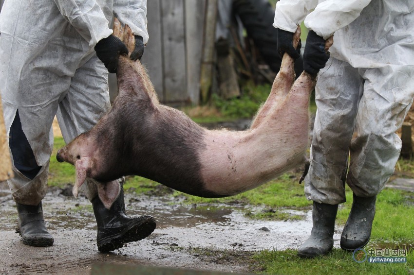
<path fill-rule="evenodd" d="M 114 35 L 101 39 L 95 45 L 96 56 L 103 62 L 109 72 L 115 73 L 118 67 L 118 59 L 120 54 L 128 55 L 127 46 Z"/>

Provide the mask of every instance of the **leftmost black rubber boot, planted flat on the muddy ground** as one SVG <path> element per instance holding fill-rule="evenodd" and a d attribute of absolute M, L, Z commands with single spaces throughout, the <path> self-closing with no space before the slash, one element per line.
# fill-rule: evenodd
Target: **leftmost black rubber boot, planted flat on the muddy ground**
<path fill-rule="evenodd" d="M 21 240 L 30 246 L 51 246 L 53 237 L 46 230 L 42 203 L 37 206 L 17 204 L 18 226 Z"/>

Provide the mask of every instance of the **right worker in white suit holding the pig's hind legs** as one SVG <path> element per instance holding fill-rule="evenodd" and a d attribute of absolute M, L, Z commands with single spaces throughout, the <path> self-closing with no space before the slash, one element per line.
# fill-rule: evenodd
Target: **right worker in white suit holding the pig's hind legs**
<path fill-rule="evenodd" d="M 314 74 L 320 70 L 305 179 L 306 198 L 313 201 L 313 228 L 298 250 L 300 257 L 312 258 L 333 247 L 345 181 L 354 200 L 340 246 L 352 251 L 370 239 L 376 195 L 400 154 L 395 131 L 413 102 L 414 1 L 281 0 L 273 24 L 278 52 L 298 57 L 291 37 L 303 19 L 310 29 L 303 67 Z M 333 34 L 329 56 L 325 39 Z"/>

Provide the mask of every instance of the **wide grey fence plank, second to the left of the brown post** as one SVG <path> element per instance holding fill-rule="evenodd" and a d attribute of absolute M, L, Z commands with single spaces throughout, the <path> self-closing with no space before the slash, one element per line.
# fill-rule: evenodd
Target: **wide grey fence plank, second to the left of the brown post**
<path fill-rule="evenodd" d="M 161 0 L 164 102 L 189 101 L 186 92 L 184 0 Z"/>

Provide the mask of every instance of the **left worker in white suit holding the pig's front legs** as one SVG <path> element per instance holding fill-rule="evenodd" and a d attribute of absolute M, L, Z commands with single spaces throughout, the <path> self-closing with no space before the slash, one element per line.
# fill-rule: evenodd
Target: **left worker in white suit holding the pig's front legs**
<path fill-rule="evenodd" d="M 47 190 L 57 115 L 66 143 L 110 108 L 108 70 L 126 46 L 112 35 L 116 16 L 135 34 L 131 57 L 141 58 L 147 33 L 146 0 L 6 0 L 0 14 L 0 89 L 15 177 L 8 181 L 24 244 L 49 246 L 41 201 Z M 99 60 L 100 59 L 100 60 Z M 107 69 L 105 69 L 107 67 Z M 130 218 L 121 193 L 105 208 L 88 180 L 84 192 L 97 222 L 97 246 L 108 252 L 146 238 L 152 217 Z"/>

